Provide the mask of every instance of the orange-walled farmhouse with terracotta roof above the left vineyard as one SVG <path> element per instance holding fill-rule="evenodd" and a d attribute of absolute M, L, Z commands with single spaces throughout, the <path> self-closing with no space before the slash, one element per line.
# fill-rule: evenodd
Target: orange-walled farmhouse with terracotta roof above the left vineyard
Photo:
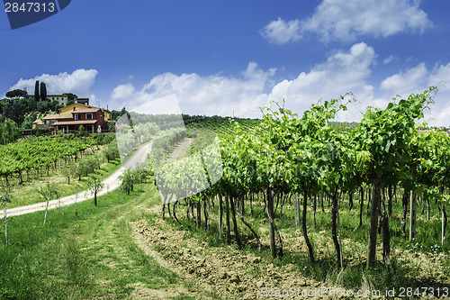
<path fill-rule="evenodd" d="M 102 108 L 92 105 L 73 104 L 59 108 L 58 114 L 48 114 L 41 120 L 36 120 L 32 128 L 49 128 L 53 133 L 78 132 L 83 125 L 86 132 L 106 132 L 106 121 L 111 114 Z"/>

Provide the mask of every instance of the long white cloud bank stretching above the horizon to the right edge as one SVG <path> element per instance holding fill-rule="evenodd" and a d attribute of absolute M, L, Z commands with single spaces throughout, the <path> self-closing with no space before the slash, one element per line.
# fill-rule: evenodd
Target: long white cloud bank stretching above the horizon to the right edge
<path fill-rule="evenodd" d="M 349 105 L 349 112 L 338 114 L 339 121 L 352 122 L 359 121 L 369 105 L 384 108 L 397 94 L 422 93 L 429 85 L 440 83 L 440 94 L 435 97 L 437 105 L 428 114 L 428 119 L 434 120 L 429 124 L 450 125 L 450 63 L 432 70 L 421 63 L 385 78 L 375 88 L 371 80 L 376 58 L 374 49 L 361 42 L 348 50 L 336 51 L 292 80 L 275 82 L 275 68 L 264 70 L 255 62 L 248 63 L 239 77 L 164 73 L 152 77 L 144 86 L 116 86 L 110 107 L 132 109 L 175 95 L 184 114 L 231 115 L 234 112 L 240 117 L 261 117 L 257 107 L 269 100 L 286 98 L 286 107 L 302 115 L 320 98 L 329 100 L 352 92 L 358 103 Z"/>

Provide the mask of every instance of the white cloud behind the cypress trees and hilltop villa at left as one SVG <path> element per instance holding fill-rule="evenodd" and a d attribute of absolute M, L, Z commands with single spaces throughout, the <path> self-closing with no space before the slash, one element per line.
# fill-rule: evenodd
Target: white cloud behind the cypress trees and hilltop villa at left
<path fill-rule="evenodd" d="M 68 74 L 67 72 L 58 75 L 42 74 L 40 76 L 23 79 L 21 78 L 11 89 L 26 88 L 28 94 L 34 94 L 34 85 L 36 80 L 44 82 L 47 86 L 47 94 L 73 93 L 80 97 L 88 96 L 90 88 L 94 86 L 95 77 L 98 72 L 96 69 L 79 68 Z"/>

